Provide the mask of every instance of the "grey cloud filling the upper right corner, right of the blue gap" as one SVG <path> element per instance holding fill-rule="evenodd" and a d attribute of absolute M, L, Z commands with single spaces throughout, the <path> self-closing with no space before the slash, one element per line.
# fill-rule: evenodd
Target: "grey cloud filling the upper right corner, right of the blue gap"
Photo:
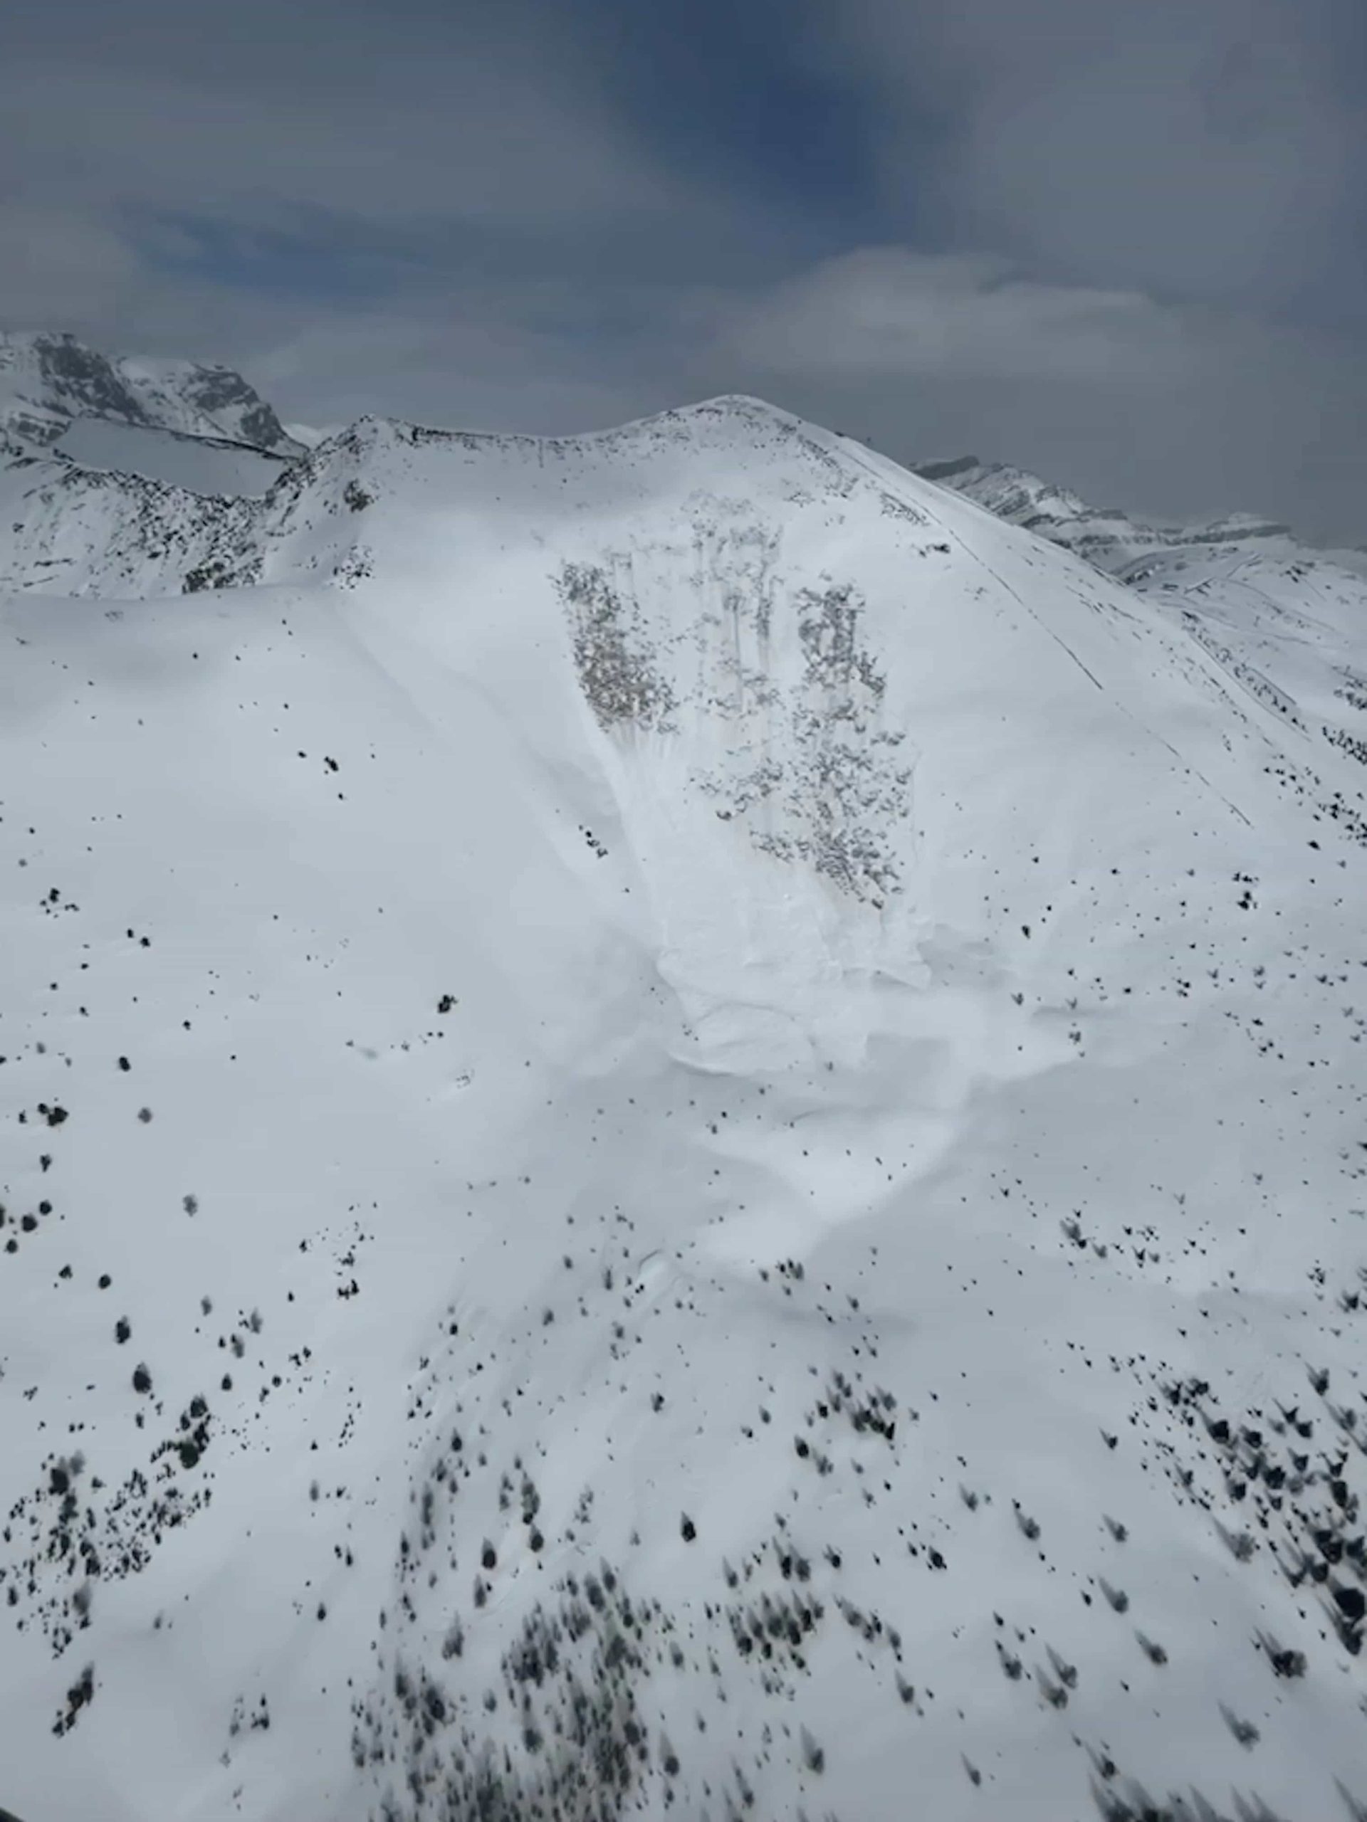
<path fill-rule="evenodd" d="M 889 210 L 940 246 L 1278 310 L 1363 275 L 1351 0 L 848 0 L 809 22 L 809 55 L 869 97 Z"/>

